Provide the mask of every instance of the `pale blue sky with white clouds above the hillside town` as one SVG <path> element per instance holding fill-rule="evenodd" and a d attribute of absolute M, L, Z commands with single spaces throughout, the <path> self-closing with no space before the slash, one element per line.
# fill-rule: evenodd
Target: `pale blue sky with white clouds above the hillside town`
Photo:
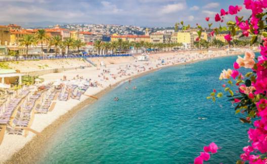
<path fill-rule="evenodd" d="M 243 0 L 0 0 L 0 23 L 88 23 L 170 27 L 205 23 Z M 230 18 L 229 18 L 230 19 Z"/>

